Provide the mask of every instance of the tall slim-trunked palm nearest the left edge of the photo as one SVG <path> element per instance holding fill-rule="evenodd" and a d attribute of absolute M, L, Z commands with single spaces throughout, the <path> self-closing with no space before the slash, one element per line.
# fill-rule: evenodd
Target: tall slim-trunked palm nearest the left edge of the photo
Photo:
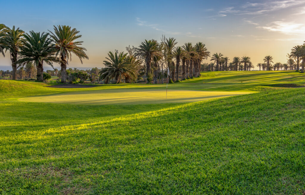
<path fill-rule="evenodd" d="M 12 61 L 12 79 L 17 79 L 17 58 L 20 51 L 20 47 L 23 44 L 23 30 L 19 28 L 15 29 L 13 26 L 12 29 L 9 27 L 1 27 L 2 30 L 5 29 L 5 34 L 2 35 L 1 45 L 5 49 L 5 51 L 9 50 L 11 61 Z M 2 51 L 3 52 L 3 51 Z"/>

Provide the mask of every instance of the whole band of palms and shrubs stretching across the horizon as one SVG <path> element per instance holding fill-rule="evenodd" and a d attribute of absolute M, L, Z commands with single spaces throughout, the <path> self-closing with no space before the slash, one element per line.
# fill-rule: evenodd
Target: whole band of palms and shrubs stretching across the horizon
<path fill-rule="evenodd" d="M 58 77 L 56 82 L 83 83 L 89 80 L 99 83 L 135 83 L 143 78 L 146 83 L 169 83 L 200 77 L 200 71 L 250 71 L 255 68 L 249 56 L 233 57 L 232 61 L 221 53 L 211 54 L 205 44 L 185 43 L 182 47 L 173 37 L 162 36 L 160 41 L 145 40 L 138 47 L 126 47 L 127 53 L 109 52 L 103 62 L 105 68 L 97 71 L 68 69 L 72 54 L 81 63 L 88 59 L 81 47 L 81 35 L 70 26 L 54 26 L 48 33 L 25 33 L 13 26 L 12 29 L 0 24 L 0 52 L 5 56 L 8 51 L 13 71 L 0 71 L 2 79 L 34 79 L 44 81 L 43 72 Z M 210 63 L 202 63 L 210 57 Z M 305 46 L 297 45 L 287 54 L 287 62 L 273 62 L 270 55 L 262 59 L 257 67 L 262 71 L 296 70 L 304 73 Z M 44 64 L 58 63 L 61 70 L 44 71 Z M 96 68 L 97 69 L 97 68 Z M 167 72 L 169 74 L 167 75 Z M 94 74 L 94 75 L 93 75 Z M 35 76 L 36 75 L 36 76 Z"/>

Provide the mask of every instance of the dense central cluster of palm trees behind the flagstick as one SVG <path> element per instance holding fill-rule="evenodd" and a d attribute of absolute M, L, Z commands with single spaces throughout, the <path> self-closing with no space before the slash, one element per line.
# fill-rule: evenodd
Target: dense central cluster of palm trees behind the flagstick
<path fill-rule="evenodd" d="M 143 69 L 147 83 L 153 81 L 157 84 L 158 78 L 160 83 L 163 83 L 167 69 L 169 82 L 199 77 L 201 62 L 210 57 L 205 44 L 198 42 L 195 45 L 185 43 L 182 47 L 176 45 L 176 39 L 173 37 L 162 37 L 161 42 L 145 40 L 139 47 L 128 50 L 128 54 L 109 52 L 107 60 L 104 61 L 106 68 L 100 71 L 100 79 L 105 83 L 112 80 L 116 83 L 133 82 Z"/>

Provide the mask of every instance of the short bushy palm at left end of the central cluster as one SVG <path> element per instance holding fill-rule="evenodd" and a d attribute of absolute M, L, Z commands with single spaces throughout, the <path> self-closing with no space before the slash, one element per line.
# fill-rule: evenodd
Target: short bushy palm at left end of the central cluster
<path fill-rule="evenodd" d="M 106 57 L 108 61 L 104 61 L 103 63 L 106 68 L 103 68 L 99 72 L 100 80 L 104 80 L 105 84 L 108 84 L 112 79 L 114 79 L 116 83 L 120 83 L 127 75 L 136 77 L 136 70 L 126 56 L 127 53 L 124 54 L 124 52 L 120 52 L 120 54 L 114 52 L 113 54 L 109 51 L 108 57 Z"/>

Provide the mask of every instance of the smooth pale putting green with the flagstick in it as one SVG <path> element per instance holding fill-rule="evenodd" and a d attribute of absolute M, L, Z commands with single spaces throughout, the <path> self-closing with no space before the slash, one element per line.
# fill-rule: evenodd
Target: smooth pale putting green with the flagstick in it
<path fill-rule="evenodd" d="M 104 89 L 57 93 L 47 96 L 20 98 L 26 102 L 69 103 L 69 104 L 153 104 L 195 102 L 212 98 L 242 95 L 248 92 L 219 92 L 170 89 Z"/>

